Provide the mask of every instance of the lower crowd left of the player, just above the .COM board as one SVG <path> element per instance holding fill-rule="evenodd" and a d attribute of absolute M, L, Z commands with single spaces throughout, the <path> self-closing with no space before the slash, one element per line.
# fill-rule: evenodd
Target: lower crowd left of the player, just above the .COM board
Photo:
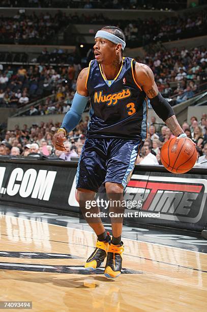
<path fill-rule="evenodd" d="M 36 155 L 39 157 L 45 155 L 53 159 L 70 161 L 71 157 L 80 156 L 85 141 L 87 122 L 88 117 L 69 133 L 68 140 L 64 143 L 65 152 L 54 150 L 52 145 L 52 136 L 60 127 L 60 123 L 41 122 L 40 125 L 34 123 L 31 127 L 24 124 L 22 129 L 16 125 L 14 131 L 1 134 L 0 155 Z"/>

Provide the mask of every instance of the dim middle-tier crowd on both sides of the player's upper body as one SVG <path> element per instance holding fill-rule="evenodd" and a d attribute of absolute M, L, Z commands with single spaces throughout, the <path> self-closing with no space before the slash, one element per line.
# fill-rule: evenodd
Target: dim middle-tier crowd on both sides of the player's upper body
<path fill-rule="evenodd" d="M 31 107 L 26 115 L 67 113 L 76 91 L 81 64 L 71 55 L 70 61 L 73 63 L 69 66 L 44 65 L 46 59 L 51 60 L 54 56 L 63 54 L 61 49 L 54 49 L 52 53 L 48 53 L 47 49 L 43 48 L 38 57 L 39 65 L 7 65 L 4 69 L 0 64 L 0 106 L 22 107 L 28 102 L 53 94 L 53 97 L 48 96 L 41 105 Z M 183 47 L 181 50 L 166 50 L 162 47 L 156 53 L 147 53 L 143 59 L 136 60 L 151 67 L 159 91 L 168 98 L 172 106 L 192 98 L 202 90 L 201 86 L 206 89 L 205 47 Z M 85 67 L 84 62 L 82 65 Z"/>

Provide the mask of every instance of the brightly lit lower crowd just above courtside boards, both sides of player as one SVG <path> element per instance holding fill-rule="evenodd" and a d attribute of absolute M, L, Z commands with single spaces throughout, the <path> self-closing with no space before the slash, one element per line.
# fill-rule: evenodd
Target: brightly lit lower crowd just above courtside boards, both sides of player
<path fill-rule="evenodd" d="M 40 125 L 34 123 L 31 127 L 24 124 L 20 129 L 15 126 L 14 131 L 7 131 L 1 135 L 0 155 L 11 156 L 36 156 L 49 157 L 70 161 L 80 157 L 82 146 L 85 142 L 85 135 L 88 123 L 88 116 L 81 121 L 76 128 L 68 134 L 64 146 L 66 151 L 55 150 L 52 145 L 52 136 L 56 133 L 60 123 L 41 122 Z M 197 120 L 192 116 L 190 123 L 186 121 L 182 124 L 183 131 L 196 143 L 198 161 L 197 165 L 207 166 L 207 117 L 202 114 Z M 159 165 L 160 150 L 162 145 L 174 135 L 166 125 L 156 122 L 153 116 L 148 123 L 147 138 L 143 143 L 140 155 L 136 164 Z"/>

